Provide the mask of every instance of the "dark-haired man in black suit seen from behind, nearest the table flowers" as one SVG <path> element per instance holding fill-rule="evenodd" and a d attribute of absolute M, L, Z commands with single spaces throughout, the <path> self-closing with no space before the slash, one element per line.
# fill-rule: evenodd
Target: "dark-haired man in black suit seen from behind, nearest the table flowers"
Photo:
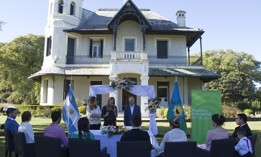
<path fill-rule="evenodd" d="M 122 134 L 120 141 L 149 141 L 150 135 L 147 131 L 143 131 L 140 129 L 142 124 L 141 116 L 134 115 L 131 120 L 132 129 L 130 131 L 126 131 Z"/>

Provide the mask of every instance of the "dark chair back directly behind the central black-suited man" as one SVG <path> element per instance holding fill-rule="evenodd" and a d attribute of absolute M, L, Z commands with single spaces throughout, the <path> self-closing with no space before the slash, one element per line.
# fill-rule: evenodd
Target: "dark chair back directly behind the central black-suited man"
<path fill-rule="evenodd" d="M 150 157 L 151 141 L 117 141 L 117 157 L 134 156 Z"/>

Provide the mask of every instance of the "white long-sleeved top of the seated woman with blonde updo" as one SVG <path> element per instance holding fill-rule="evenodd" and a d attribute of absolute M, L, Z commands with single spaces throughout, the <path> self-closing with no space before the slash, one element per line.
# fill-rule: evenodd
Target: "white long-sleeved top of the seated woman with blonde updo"
<path fill-rule="evenodd" d="M 175 128 L 170 130 L 164 135 L 164 138 L 161 142 L 159 147 L 155 147 L 155 156 L 160 155 L 164 152 L 164 142 L 182 142 L 187 141 L 187 135 L 184 131 L 180 130 L 179 128 Z M 174 153 L 175 154 L 175 153 Z"/>

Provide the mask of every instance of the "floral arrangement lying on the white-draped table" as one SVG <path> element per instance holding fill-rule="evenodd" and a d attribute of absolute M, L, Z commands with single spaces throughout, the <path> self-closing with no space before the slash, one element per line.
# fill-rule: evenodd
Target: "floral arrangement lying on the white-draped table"
<path fill-rule="evenodd" d="M 120 135 L 130 129 L 126 129 L 125 125 L 108 125 L 104 128 L 101 128 L 101 134 L 108 134 L 108 138 L 112 135 Z"/>

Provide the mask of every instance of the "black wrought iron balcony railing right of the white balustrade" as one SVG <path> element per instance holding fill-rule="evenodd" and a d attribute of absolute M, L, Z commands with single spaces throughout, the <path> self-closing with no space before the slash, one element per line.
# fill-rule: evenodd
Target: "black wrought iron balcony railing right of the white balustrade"
<path fill-rule="evenodd" d="M 198 56 L 148 56 L 149 64 L 161 65 L 201 65 Z"/>

